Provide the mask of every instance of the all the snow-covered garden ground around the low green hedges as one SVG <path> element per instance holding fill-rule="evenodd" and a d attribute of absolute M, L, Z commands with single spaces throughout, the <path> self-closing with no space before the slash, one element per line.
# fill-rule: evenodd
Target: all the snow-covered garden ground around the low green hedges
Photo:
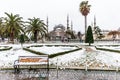
<path fill-rule="evenodd" d="M 45 43 L 44 43 L 45 44 Z M 55 43 L 54 43 L 55 44 Z M 66 43 L 64 43 L 66 44 Z M 25 46 L 30 46 L 33 44 L 24 44 Z M 35 44 L 34 44 L 35 45 Z M 73 44 L 72 44 L 73 45 Z M 76 44 L 75 44 L 76 45 Z M 96 50 L 95 47 L 83 46 L 82 50 L 71 52 L 69 54 L 61 55 L 55 58 L 50 59 L 50 65 L 60 68 L 107 68 L 107 69 L 116 69 L 120 67 L 120 54 L 107 51 Z M 24 51 L 20 44 L 2 44 L 1 46 L 10 46 L 13 47 L 11 50 L 0 51 L 0 68 L 12 68 L 14 61 L 18 59 L 19 56 L 37 56 L 36 54 Z M 104 46 L 105 47 L 105 46 Z M 75 49 L 75 47 L 41 47 L 41 49 L 32 48 L 37 51 L 43 51 L 46 53 L 52 53 Z M 114 47 L 113 47 L 114 48 Z M 119 48 L 119 47 L 118 47 Z"/>

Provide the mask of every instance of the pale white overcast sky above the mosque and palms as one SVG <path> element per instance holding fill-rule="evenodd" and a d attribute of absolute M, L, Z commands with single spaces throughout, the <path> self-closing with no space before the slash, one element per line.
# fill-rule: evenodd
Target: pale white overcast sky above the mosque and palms
<path fill-rule="evenodd" d="M 0 0 L 0 17 L 4 12 L 19 14 L 24 20 L 37 17 L 46 22 L 49 18 L 49 31 L 55 25 L 67 25 L 67 14 L 73 22 L 73 29 L 84 33 L 84 17 L 79 12 L 82 0 Z M 119 0 L 88 0 L 91 5 L 87 25 L 91 25 L 96 16 L 96 23 L 101 29 L 117 30 L 120 27 Z"/>

